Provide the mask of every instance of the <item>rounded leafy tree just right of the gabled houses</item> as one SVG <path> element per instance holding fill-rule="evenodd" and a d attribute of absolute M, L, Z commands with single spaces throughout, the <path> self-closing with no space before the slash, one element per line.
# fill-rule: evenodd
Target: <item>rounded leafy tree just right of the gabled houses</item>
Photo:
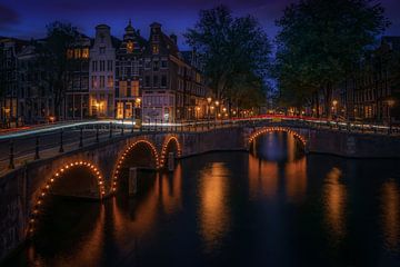
<path fill-rule="evenodd" d="M 233 18 L 226 6 L 201 10 L 199 21 L 184 37 L 202 55 L 206 76 L 218 99 L 230 106 L 241 95 L 236 91 L 241 86 L 256 91 L 261 88 L 248 81 L 266 77 L 271 46 L 256 18 Z"/>

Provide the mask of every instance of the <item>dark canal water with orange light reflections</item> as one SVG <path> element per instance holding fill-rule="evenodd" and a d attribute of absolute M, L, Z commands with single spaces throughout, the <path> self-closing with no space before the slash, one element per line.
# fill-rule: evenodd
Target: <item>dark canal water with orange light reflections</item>
<path fill-rule="evenodd" d="M 52 197 L 8 266 L 400 266 L 400 161 L 301 152 L 284 132 L 252 152 L 140 174 L 103 204 Z"/>

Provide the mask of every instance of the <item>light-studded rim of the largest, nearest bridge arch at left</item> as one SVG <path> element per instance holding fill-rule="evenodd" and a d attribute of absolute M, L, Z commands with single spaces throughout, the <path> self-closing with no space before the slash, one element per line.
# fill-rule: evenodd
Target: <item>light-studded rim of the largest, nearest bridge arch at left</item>
<path fill-rule="evenodd" d="M 102 174 L 100 172 L 100 169 L 84 160 L 73 161 L 70 164 L 66 164 L 62 167 L 60 167 L 57 171 L 54 171 L 50 178 L 48 178 L 41 188 L 38 189 L 38 192 L 36 194 L 36 197 L 33 197 L 32 208 L 29 214 L 29 221 L 27 227 L 27 235 L 32 235 L 34 233 L 37 222 L 40 217 L 40 211 L 43 207 L 43 204 L 47 199 L 47 197 L 53 191 L 56 182 L 63 178 L 69 171 L 77 169 L 77 168 L 84 168 L 91 172 L 91 175 L 97 179 L 97 187 L 99 189 L 98 197 L 102 199 L 106 196 L 106 185 Z"/>

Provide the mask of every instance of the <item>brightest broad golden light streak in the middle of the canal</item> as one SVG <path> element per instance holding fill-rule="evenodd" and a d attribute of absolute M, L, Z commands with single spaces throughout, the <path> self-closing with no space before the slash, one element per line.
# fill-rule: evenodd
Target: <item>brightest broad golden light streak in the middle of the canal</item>
<path fill-rule="evenodd" d="M 200 233 L 206 250 L 211 251 L 221 243 L 229 230 L 228 169 L 222 162 L 212 162 L 201 172 L 200 195 Z"/>

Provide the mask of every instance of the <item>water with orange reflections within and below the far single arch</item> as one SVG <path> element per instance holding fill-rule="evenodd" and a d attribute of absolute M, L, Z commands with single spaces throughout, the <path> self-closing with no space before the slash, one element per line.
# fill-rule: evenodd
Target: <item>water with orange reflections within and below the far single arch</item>
<path fill-rule="evenodd" d="M 250 198 L 274 199 L 280 189 L 289 201 L 301 201 L 307 190 L 307 158 L 290 134 L 269 132 L 254 141 L 249 155 Z"/>

